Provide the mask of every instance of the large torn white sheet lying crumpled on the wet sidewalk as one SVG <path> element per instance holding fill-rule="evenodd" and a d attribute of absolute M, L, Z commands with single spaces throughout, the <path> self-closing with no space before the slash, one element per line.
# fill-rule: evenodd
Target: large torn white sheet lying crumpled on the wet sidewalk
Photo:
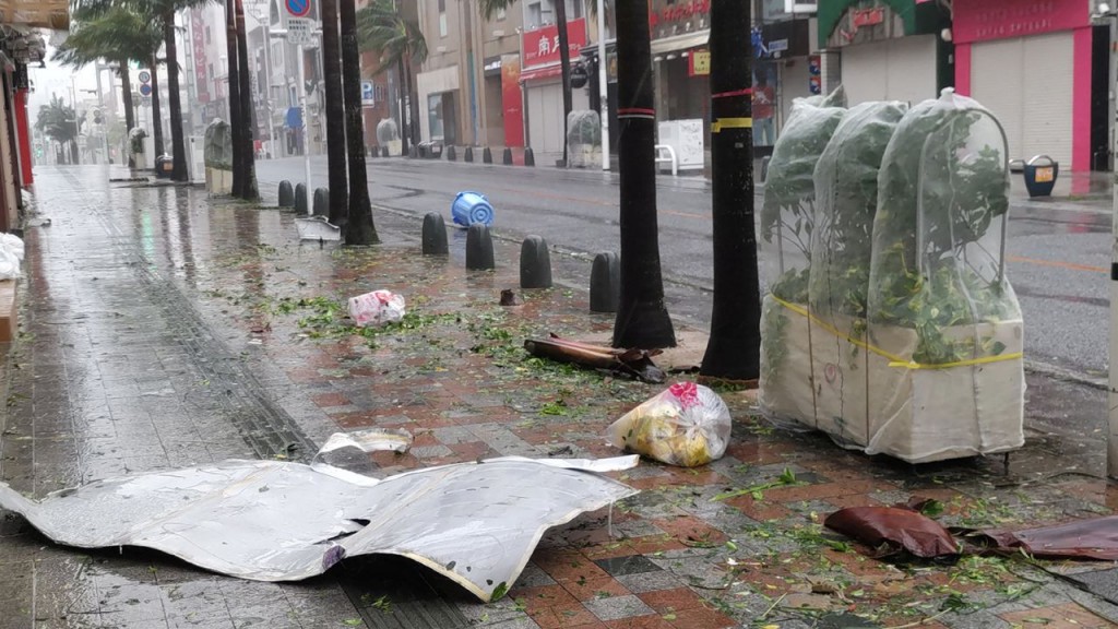
<path fill-rule="evenodd" d="M 0 508 L 59 544 L 142 546 L 254 581 L 297 581 L 347 556 L 411 558 L 500 598 L 543 532 L 637 491 L 596 461 L 489 459 L 377 480 L 331 466 L 225 461 L 100 480 L 32 501 L 0 484 Z"/>

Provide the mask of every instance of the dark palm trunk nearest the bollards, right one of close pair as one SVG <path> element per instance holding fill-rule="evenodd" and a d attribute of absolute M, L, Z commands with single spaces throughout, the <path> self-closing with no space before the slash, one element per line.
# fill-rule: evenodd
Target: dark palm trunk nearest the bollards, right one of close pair
<path fill-rule="evenodd" d="M 361 58 L 357 46 L 354 0 L 341 0 L 342 74 L 345 88 L 345 144 L 349 152 L 349 220 L 345 244 L 380 242 L 369 201 L 369 171 L 364 167 L 364 120 L 361 116 Z"/>

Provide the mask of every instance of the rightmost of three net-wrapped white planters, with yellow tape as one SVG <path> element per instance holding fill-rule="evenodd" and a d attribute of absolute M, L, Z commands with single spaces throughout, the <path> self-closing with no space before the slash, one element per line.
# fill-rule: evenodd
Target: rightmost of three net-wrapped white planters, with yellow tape
<path fill-rule="evenodd" d="M 901 120 L 878 179 L 866 452 L 923 462 L 1024 443 L 1008 191 L 1005 133 L 977 102 L 945 90 Z"/>

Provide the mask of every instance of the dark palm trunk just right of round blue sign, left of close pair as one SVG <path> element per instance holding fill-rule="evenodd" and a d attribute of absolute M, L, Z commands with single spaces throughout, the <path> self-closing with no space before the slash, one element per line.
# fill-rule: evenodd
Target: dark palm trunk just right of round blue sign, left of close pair
<path fill-rule="evenodd" d="M 338 0 L 322 0 L 322 74 L 326 98 L 330 223 L 342 227 L 344 233 L 349 190 L 345 182 L 345 107 L 342 104 L 342 66 L 338 46 Z"/>

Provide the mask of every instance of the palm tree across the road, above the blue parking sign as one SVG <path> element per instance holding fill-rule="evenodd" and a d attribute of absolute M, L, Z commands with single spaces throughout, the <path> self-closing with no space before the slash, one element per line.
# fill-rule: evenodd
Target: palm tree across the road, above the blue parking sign
<path fill-rule="evenodd" d="M 380 72 L 392 66 L 398 68 L 401 87 L 408 95 L 408 102 L 417 105 L 411 94 L 411 66 L 427 60 L 427 40 L 419 25 L 404 19 L 395 0 L 373 0 L 357 12 L 357 32 L 362 50 L 380 55 Z M 409 119 L 415 120 L 415 116 L 405 115 L 401 104 L 400 138 L 405 154 L 408 152 L 408 141 L 413 139 L 410 135 L 414 125 L 404 122 Z"/>

